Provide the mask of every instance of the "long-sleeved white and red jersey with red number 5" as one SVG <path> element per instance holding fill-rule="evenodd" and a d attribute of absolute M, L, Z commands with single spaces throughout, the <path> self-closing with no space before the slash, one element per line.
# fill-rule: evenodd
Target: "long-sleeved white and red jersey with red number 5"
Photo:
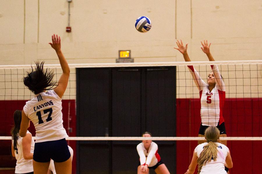
<path fill-rule="evenodd" d="M 194 82 L 199 88 L 202 125 L 218 126 L 218 124 L 222 124 L 224 122 L 223 106 L 226 98 L 226 87 L 217 65 L 211 65 L 216 82 L 216 85 L 212 91 L 209 91 L 208 85 L 203 81 L 203 79 L 201 79 L 199 73 L 193 66 L 188 66 L 188 68 L 192 72 Z"/>

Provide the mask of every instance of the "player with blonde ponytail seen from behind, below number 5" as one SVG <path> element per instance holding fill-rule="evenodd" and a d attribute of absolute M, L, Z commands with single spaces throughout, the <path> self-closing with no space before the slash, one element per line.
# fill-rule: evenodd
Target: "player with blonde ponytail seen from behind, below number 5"
<path fill-rule="evenodd" d="M 209 126 L 205 131 L 206 143 L 199 144 L 193 153 L 192 161 L 185 174 L 193 174 L 198 164 L 199 174 L 226 174 L 225 166 L 233 167 L 229 149 L 218 141 L 220 131 Z"/>

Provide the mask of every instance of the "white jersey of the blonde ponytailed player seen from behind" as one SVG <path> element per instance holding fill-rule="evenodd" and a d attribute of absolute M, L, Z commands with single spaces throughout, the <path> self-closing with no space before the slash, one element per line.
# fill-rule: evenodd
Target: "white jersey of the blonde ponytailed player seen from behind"
<path fill-rule="evenodd" d="M 197 157 L 200 156 L 200 153 L 203 151 L 204 146 L 206 146 L 207 144 L 208 143 L 202 143 L 195 148 L 194 152 L 196 153 Z M 203 165 L 199 174 L 226 174 L 225 164 L 226 156 L 229 153 L 229 149 L 224 144 L 218 142 L 216 142 L 216 144 L 218 150 L 216 161 L 211 160 L 210 162 Z"/>

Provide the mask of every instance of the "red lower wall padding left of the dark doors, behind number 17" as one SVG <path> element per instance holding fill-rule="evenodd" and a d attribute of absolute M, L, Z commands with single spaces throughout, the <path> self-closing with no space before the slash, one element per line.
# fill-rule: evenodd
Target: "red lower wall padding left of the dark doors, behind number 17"
<path fill-rule="evenodd" d="M 22 110 L 25 102 L 27 101 L 0 101 L 0 113 L 1 113 L 1 124 L 0 124 L 0 136 L 10 136 L 10 130 L 14 124 L 13 122 L 13 113 L 15 110 Z M 71 137 L 76 136 L 76 112 L 75 112 L 75 100 L 62 100 L 62 113 L 63 113 L 63 126 L 68 133 L 68 115 L 71 117 L 70 128 L 72 132 L 69 132 L 68 135 Z M 70 110 L 69 110 L 70 108 Z M 32 122 L 28 128 L 29 132 L 33 136 L 36 135 L 35 127 Z M 74 150 L 73 162 L 72 162 L 72 173 L 76 172 L 76 141 L 68 141 L 68 145 Z M 11 141 L 10 140 L 0 140 L 0 167 L 15 167 L 15 158 L 10 158 L 11 154 Z M 9 161 L 6 161 L 7 157 L 10 158 Z M 9 159 L 8 158 L 8 159 Z"/>

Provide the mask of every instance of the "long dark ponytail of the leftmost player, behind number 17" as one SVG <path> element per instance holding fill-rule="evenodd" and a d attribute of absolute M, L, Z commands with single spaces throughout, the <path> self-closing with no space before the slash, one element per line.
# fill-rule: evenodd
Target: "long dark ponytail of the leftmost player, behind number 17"
<path fill-rule="evenodd" d="M 14 140 L 14 144 L 13 144 L 14 150 L 17 149 L 17 137 L 19 137 L 18 134 L 19 134 L 19 130 L 20 130 L 21 120 L 22 120 L 22 111 L 16 110 L 14 112 L 14 123 L 15 123 L 15 125 L 11 129 L 12 139 Z"/>

